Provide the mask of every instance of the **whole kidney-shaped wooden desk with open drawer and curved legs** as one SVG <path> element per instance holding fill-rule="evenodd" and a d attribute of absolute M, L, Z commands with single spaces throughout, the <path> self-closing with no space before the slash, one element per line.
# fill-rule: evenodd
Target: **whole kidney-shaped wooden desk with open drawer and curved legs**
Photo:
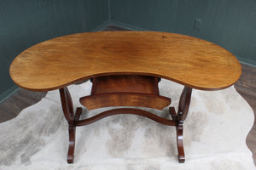
<path fill-rule="evenodd" d="M 67 161 L 73 162 L 75 129 L 106 116 L 135 114 L 175 126 L 179 162 L 184 162 L 183 122 L 189 111 L 192 88 L 228 88 L 241 75 L 241 65 L 224 48 L 195 37 L 154 31 L 103 31 L 57 37 L 19 54 L 9 73 L 21 88 L 32 91 L 59 89 L 69 128 Z M 158 82 L 166 78 L 184 85 L 172 119 L 148 111 L 122 108 L 80 120 L 73 111 L 67 85 L 90 79 L 91 94 L 80 98 L 89 110 L 108 106 L 143 106 L 162 110 L 171 99 L 160 96 Z"/>

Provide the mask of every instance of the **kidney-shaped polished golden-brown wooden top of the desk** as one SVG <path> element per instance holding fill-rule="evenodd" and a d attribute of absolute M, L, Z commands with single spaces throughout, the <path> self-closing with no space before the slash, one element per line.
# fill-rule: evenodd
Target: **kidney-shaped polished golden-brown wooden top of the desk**
<path fill-rule="evenodd" d="M 21 88 L 49 91 L 107 75 L 163 77 L 189 88 L 228 88 L 241 75 L 233 54 L 195 37 L 157 31 L 99 31 L 40 42 L 9 68 Z"/>

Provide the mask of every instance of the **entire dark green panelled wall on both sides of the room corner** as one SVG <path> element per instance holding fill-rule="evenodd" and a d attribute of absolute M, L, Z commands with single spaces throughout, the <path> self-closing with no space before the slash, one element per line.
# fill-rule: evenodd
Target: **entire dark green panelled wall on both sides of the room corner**
<path fill-rule="evenodd" d="M 200 37 L 256 66 L 256 0 L 0 0 L 0 103 L 16 88 L 9 65 L 21 51 L 108 23 Z"/>

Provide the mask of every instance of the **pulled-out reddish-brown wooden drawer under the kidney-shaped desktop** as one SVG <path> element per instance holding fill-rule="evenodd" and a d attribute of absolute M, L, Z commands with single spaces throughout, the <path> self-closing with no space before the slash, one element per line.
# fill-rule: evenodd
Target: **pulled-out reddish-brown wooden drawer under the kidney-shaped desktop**
<path fill-rule="evenodd" d="M 89 96 L 80 98 L 88 110 L 109 106 L 141 106 L 163 110 L 171 99 L 160 96 L 158 78 L 118 75 L 96 77 Z"/>

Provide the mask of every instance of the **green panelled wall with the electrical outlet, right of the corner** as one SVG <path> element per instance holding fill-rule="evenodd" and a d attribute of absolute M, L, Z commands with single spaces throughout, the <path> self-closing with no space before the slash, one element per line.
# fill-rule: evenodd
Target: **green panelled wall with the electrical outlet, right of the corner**
<path fill-rule="evenodd" d="M 116 25 L 200 37 L 256 66 L 256 0 L 111 0 L 110 8 Z"/>

